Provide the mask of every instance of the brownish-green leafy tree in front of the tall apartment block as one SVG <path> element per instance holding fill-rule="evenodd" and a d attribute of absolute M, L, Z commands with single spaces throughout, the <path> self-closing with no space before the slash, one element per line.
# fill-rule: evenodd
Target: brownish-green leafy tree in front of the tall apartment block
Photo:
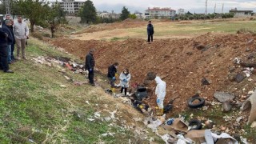
<path fill-rule="evenodd" d="M 48 14 L 46 16 L 46 22 L 48 27 L 50 27 L 51 37 L 54 38 L 54 32 L 57 30 L 60 24 L 66 23 L 65 18 L 66 12 L 62 7 L 55 2 L 52 6 L 49 7 Z"/>

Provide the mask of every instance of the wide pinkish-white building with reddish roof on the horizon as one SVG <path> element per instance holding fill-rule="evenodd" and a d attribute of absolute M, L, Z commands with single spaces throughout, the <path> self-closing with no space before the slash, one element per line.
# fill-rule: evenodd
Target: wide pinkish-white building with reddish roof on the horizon
<path fill-rule="evenodd" d="M 175 14 L 176 11 L 170 8 L 149 7 L 145 10 L 145 18 L 172 18 Z"/>

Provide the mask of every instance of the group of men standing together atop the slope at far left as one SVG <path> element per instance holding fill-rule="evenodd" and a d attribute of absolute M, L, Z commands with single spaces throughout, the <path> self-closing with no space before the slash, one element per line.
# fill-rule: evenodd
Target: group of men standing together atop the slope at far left
<path fill-rule="evenodd" d="M 18 16 L 18 22 L 10 19 L 10 15 L 6 15 L 6 19 L 0 22 L 0 70 L 5 73 L 14 73 L 10 70 L 9 65 L 20 60 L 20 49 L 22 49 L 22 58 L 26 59 L 26 39 L 29 35 L 29 29 L 26 22 L 22 22 L 22 16 Z M 17 44 L 17 57 L 14 58 L 14 46 Z"/>

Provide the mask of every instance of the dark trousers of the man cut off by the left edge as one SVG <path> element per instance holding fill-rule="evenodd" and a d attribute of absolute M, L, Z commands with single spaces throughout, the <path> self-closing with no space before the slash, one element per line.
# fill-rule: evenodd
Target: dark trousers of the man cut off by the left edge
<path fill-rule="evenodd" d="M 8 65 L 8 53 L 7 53 L 7 45 L 6 46 L 0 46 L 0 68 L 3 71 L 9 70 Z"/>

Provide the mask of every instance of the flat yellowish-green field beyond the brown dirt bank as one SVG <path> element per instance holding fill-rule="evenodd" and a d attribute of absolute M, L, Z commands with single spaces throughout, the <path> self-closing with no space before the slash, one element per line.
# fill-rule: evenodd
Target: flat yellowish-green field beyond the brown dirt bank
<path fill-rule="evenodd" d="M 154 38 L 191 38 L 208 32 L 235 34 L 238 30 L 246 28 L 256 30 L 256 21 L 234 21 L 234 22 L 154 22 Z M 127 38 L 146 39 L 146 26 L 129 29 L 103 30 L 94 33 L 74 35 L 81 40 L 123 40 Z"/>

